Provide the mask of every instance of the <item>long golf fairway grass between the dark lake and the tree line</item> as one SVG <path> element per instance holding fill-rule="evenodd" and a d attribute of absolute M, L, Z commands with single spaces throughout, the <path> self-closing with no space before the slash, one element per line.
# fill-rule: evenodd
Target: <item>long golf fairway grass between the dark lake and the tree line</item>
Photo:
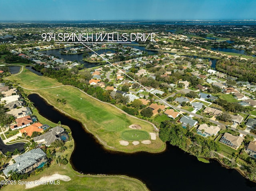
<path fill-rule="evenodd" d="M 30 89 L 62 85 L 58 83 L 56 79 L 38 76 L 30 71 L 22 72 L 20 75 L 11 76 L 10 79 L 17 80 L 18 82 L 21 82 L 22 86 Z M 127 130 L 128 126 L 131 124 L 142 126 L 142 130 L 147 132 L 154 131 L 153 125 L 144 120 L 128 116 L 113 105 L 99 102 L 95 98 L 84 94 L 74 87 L 63 86 L 52 89 L 25 91 L 27 94 L 40 94 L 51 105 L 65 112 L 69 116 L 79 119 L 89 132 L 96 135 L 101 142 L 105 143 L 106 148 L 126 152 L 137 152 L 139 150 L 159 152 L 165 148 L 165 144 L 159 138 L 152 141 L 150 145 L 141 144 L 136 148 L 132 145 L 126 146 L 125 148 L 121 146 L 119 143 L 119 140 L 121 140 L 120 132 Z M 58 103 L 57 98 L 63 98 L 67 103 L 65 105 Z M 43 118 L 40 119 L 42 122 L 43 120 Z M 51 124 L 48 125 L 52 126 Z"/>

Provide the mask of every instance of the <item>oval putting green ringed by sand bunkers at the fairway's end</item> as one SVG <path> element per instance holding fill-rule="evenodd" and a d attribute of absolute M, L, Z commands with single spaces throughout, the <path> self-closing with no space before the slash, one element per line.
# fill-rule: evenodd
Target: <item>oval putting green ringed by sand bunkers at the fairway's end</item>
<path fill-rule="evenodd" d="M 122 138 L 128 141 L 145 140 L 149 138 L 149 134 L 142 130 L 126 130 L 122 132 Z"/>

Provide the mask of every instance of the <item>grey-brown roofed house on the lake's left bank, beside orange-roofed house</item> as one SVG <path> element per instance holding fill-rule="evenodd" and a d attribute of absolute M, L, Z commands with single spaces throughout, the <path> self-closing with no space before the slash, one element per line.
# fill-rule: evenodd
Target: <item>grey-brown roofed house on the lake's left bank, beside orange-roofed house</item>
<path fill-rule="evenodd" d="M 50 146 L 52 144 L 52 142 L 54 142 L 55 140 L 60 140 L 60 134 L 64 132 L 64 128 L 60 127 L 60 126 L 56 126 L 52 129 L 50 129 L 48 132 L 46 132 L 43 135 L 34 137 L 34 142 L 37 143 L 43 143 L 46 146 Z"/>

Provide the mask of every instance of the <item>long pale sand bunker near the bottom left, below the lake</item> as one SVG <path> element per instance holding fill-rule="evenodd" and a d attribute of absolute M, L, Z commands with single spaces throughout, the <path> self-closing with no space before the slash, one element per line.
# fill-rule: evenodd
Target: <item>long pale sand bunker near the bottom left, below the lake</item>
<path fill-rule="evenodd" d="M 70 177 L 66 176 L 66 175 L 60 175 L 60 174 L 53 174 L 51 176 L 44 176 L 38 180 L 35 180 L 35 181 L 31 181 L 32 184 L 27 184 L 26 185 L 26 189 L 28 188 L 34 188 L 36 186 L 39 186 L 39 185 L 42 185 L 42 184 L 49 184 L 50 181 L 54 181 L 54 180 L 62 180 L 62 181 L 65 181 L 65 182 L 68 182 L 71 180 Z"/>

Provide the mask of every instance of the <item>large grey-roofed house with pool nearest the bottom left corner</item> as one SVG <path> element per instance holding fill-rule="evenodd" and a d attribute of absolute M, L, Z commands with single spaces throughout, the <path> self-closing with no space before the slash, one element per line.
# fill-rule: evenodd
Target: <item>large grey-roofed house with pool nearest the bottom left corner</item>
<path fill-rule="evenodd" d="M 16 158 L 14 158 L 15 163 L 13 165 L 7 166 L 3 173 L 6 177 L 9 177 L 10 171 L 24 174 L 31 173 L 40 164 L 47 161 L 46 154 L 40 148 L 32 149 Z"/>

